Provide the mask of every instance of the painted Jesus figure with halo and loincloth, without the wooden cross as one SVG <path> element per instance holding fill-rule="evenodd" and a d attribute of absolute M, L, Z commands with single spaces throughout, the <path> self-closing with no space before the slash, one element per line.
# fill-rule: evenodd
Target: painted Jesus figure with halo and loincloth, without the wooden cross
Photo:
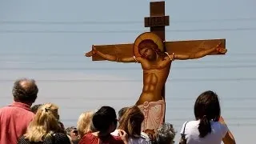
<path fill-rule="evenodd" d="M 91 57 L 94 54 L 98 54 L 112 62 L 138 62 L 141 64 L 143 88 L 136 105 L 145 115 L 142 131 L 147 134 L 153 134 L 163 122 L 166 105 L 162 97 L 162 89 L 170 73 L 171 62 L 174 60 L 202 58 L 214 51 L 226 54 L 226 49 L 219 47 L 220 44 L 209 50 L 202 49 L 196 54 L 168 54 L 164 51 L 165 43 L 162 42 L 162 39 L 152 32 L 146 32 L 139 35 L 134 42 L 134 57 L 119 58 L 118 55 L 102 54 L 94 46 L 93 50 L 85 55 L 86 57 Z"/>

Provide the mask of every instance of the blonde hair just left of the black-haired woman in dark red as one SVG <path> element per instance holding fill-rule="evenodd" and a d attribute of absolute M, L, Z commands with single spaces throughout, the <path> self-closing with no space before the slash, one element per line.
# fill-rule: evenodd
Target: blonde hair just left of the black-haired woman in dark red
<path fill-rule="evenodd" d="M 94 111 L 86 111 L 82 113 L 78 118 L 78 133 L 81 135 L 81 138 L 89 133 L 93 132 L 92 130 L 92 118 Z"/>

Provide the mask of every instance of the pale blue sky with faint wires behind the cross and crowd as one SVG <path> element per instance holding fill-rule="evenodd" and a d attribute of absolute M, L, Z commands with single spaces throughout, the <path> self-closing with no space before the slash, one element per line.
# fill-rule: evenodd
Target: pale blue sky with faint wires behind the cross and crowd
<path fill-rule="evenodd" d="M 91 45 L 134 42 L 150 1 L 0 0 L 0 106 L 12 101 L 16 78 L 38 80 L 36 103 L 55 102 L 66 126 L 99 106 L 130 106 L 142 91 L 138 64 L 92 62 Z M 166 121 L 179 131 L 194 100 L 218 93 L 238 143 L 253 142 L 256 13 L 253 0 L 166 1 L 166 41 L 226 38 L 228 54 L 173 62 L 166 82 Z M 246 113 L 247 112 L 247 113 Z M 177 135 L 179 138 L 179 135 Z"/>

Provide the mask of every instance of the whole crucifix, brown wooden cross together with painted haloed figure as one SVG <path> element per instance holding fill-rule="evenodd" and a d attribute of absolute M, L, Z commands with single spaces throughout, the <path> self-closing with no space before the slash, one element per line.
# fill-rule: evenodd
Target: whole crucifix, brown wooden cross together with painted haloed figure
<path fill-rule="evenodd" d="M 86 57 L 93 61 L 138 62 L 143 70 L 142 94 L 136 106 L 145 116 L 142 131 L 154 134 L 164 122 L 166 113 L 165 83 L 171 62 L 202 58 L 206 55 L 226 54 L 225 39 L 206 39 L 166 42 L 165 2 L 150 2 L 150 17 L 145 19 L 150 32 L 140 34 L 134 43 L 92 46 Z"/>

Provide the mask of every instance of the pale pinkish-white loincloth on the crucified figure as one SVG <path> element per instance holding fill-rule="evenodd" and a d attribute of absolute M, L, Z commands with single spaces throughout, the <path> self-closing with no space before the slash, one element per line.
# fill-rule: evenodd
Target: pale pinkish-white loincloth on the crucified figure
<path fill-rule="evenodd" d="M 162 125 L 165 114 L 165 102 L 159 100 L 157 102 L 144 102 L 138 108 L 144 114 L 144 121 L 142 122 L 142 131 L 144 130 L 158 130 Z"/>

